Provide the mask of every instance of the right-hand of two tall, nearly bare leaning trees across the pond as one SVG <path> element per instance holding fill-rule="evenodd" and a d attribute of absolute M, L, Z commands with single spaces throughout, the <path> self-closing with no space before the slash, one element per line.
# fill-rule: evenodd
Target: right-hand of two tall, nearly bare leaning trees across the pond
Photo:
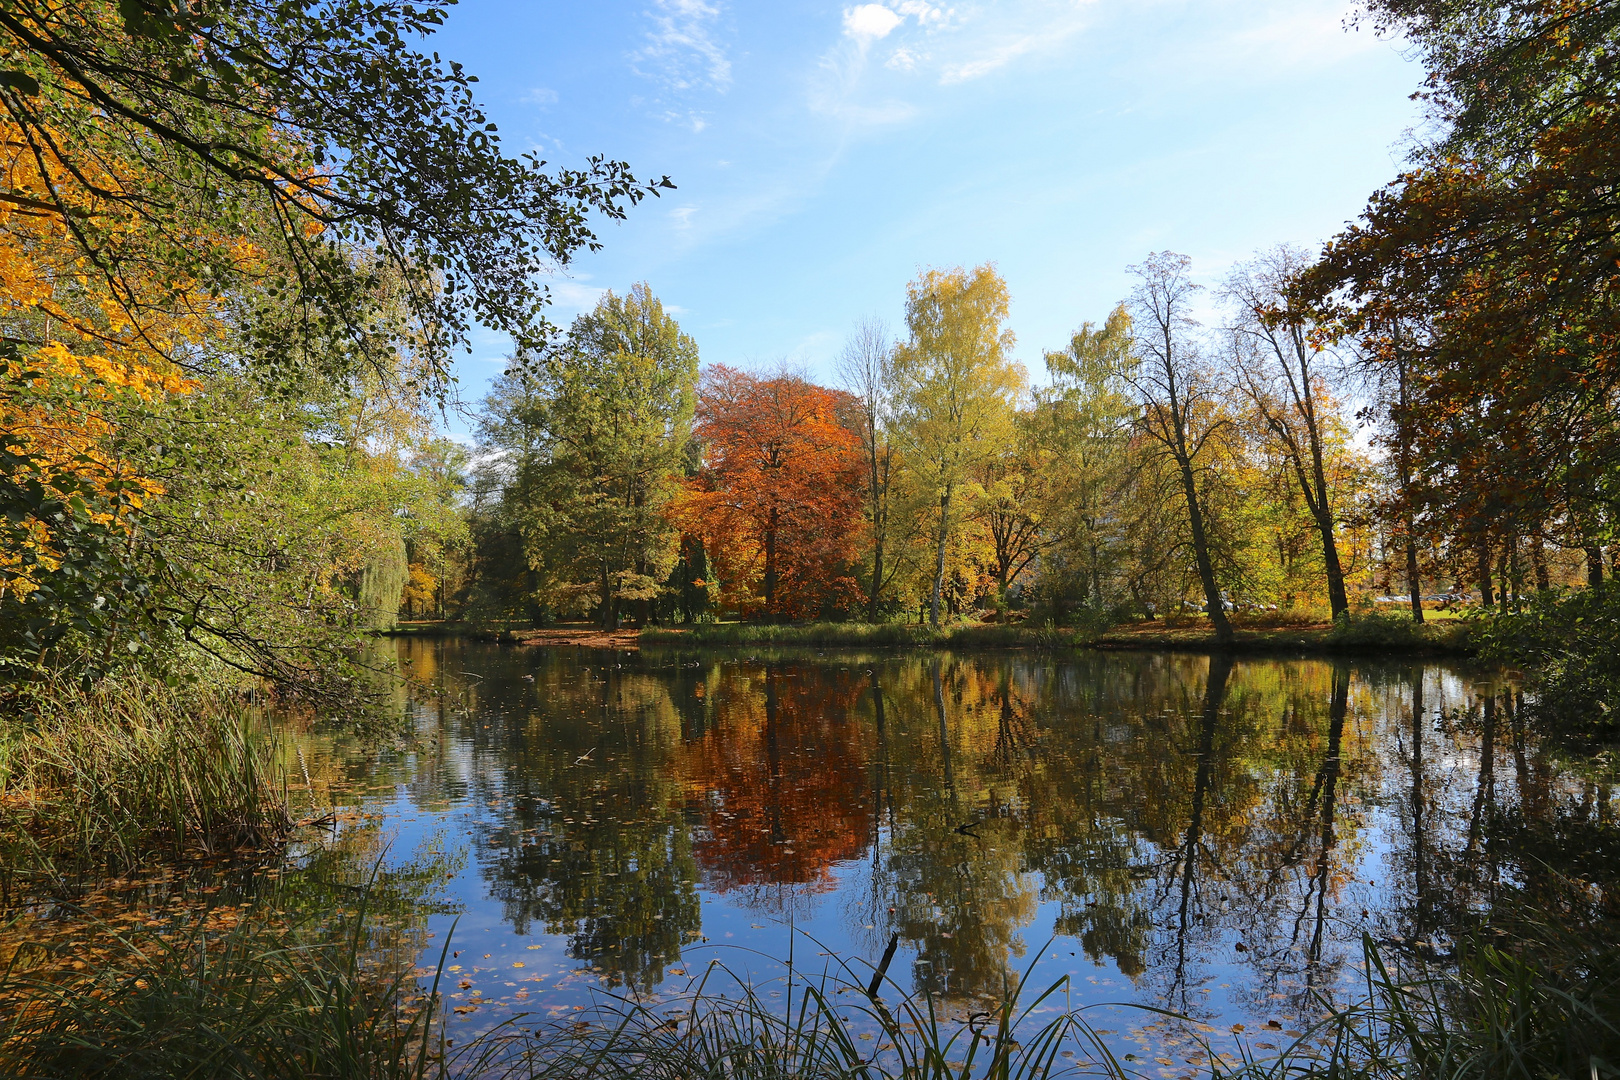
<path fill-rule="evenodd" d="M 1328 607 L 1338 619 L 1349 610 L 1349 596 L 1338 555 L 1338 492 L 1330 483 L 1332 442 L 1340 434 L 1335 358 L 1325 351 L 1309 313 L 1288 295 L 1307 266 L 1302 251 L 1280 246 L 1231 272 L 1225 288 L 1236 314 L 1230 366 L 1233 382 L 1299 484 L 1320 536 Z M 1418 591 L 1416 580 L 1411 589 Z"/>

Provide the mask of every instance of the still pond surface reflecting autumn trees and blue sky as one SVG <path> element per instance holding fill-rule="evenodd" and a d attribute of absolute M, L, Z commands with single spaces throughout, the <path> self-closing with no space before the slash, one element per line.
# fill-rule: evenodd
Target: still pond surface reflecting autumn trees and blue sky
<path fill-rule="evenodd" d="M 863 981 L 894 942 L 889 978 L 964 1014 L 1034 963 L 1058 1004 L 1265 1048 L 1361 993 L 1364 934 L 1443 962 L 1494 907 L 1612 904 L 1570 839 L 1607 785 L 1486 670 L 397 648 L 415 737 L 300 767 L 342 772 L 356 850 L 418 882 L 424 968 L 454 926 L 468 1035 L 714 962 Z M 1139 1054 L 1162 1031 L 1090 1018 Z"/>

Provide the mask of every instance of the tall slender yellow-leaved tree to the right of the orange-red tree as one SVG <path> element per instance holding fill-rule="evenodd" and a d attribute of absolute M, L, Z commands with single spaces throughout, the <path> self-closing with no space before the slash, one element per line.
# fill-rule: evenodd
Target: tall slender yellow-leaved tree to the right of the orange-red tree
<path fill-rule="evenodd" d="M 894 351 L 896 436 L 912 481 L 938 500 L 928 620 L 940 625 L 944 551 L 961 513 L 956 500 L 975 468 L 1016 439 L 1025 372 L 1008 353 L 1008 287 L 990 264 L 927 270 L 906 287 L 910 338 Z"/>

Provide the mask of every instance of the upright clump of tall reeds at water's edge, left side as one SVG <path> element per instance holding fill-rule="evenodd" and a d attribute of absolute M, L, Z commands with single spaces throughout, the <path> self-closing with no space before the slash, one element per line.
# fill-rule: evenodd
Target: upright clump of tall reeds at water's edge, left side
<path fill-rule="evenodd" d="M 285 832 L 269 729 L 141 677 L 29 688 L 0 719 L 0 882 L 123 871 Z"/>

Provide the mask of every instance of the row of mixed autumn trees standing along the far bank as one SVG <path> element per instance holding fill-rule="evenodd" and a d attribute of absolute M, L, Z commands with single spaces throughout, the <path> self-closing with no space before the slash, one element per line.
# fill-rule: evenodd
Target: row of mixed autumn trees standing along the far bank
<path fill-rule="evenodd" d="M 838 384 L 700 366 L 646 285 L 518 356 L 470 455 L 468 544 L 408 614 L 603 625 L 714 617 L 1108 622 L 1322 609 L 1516 610 L 1602 576 L 1591 510 L 1421 505 L 1437 463 L 1400 377 L 1299 293 L 1277 248 L 1202 296 L 1157 253 L 1100 322 L 1013 359 L 991 266 L 927 270 L 897 340 L 868 322 Z M 1213 311 L 1210 325 L 1194 313 Z M 1401 358 L 1405 363 L 1405 356 Z M 1400 374 L 1400 372 L 1396 372 Z M 1599 513 L 1601 517 L 1601 513 Z"/>

